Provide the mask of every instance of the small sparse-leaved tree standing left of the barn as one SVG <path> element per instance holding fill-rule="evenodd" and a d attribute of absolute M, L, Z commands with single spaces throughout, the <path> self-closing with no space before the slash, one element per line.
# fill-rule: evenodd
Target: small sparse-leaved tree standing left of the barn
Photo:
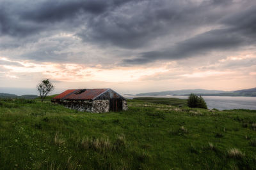
<path fill-rule="evenodd" d="M 40 93 L 41 101 L 44 101 L 45 96 L 47 96 L 47 94 L 49 94 L 49 92 L 52 92 L 52 90 L 54 89 L 54 85 L 52 85 L 52 83 L 49 81 L 49 79 L 47 79 L 47 80 L 43 80 L 41 83 L 39 83 L 36 86 L 36 89 Z"/>

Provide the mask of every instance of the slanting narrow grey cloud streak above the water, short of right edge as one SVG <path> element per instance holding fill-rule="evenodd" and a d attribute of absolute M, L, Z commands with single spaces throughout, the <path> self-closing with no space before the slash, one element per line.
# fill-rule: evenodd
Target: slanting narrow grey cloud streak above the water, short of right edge
<path fill-rule="evenodd" d="M 194 57 L 206 55 L 206 52 L 212 50 L 228 50 L 234 46 L 243 43 L 243 39 L 236 34 L 229 34 L 227 30 L 219 29 L 205 32 L 177 43 L 170 48 L 159 51 L 143 52 L 136 59 L 125 59 L 127 64 L 143 64 L 159 59 L 184 59 L 186 57 Z"/>

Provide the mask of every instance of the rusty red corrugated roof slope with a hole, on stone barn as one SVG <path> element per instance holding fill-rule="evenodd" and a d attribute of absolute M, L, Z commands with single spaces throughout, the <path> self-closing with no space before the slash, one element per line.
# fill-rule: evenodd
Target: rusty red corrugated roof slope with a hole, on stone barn
<path fill-rule="evenodd" d="M 66 90 L 52 99 L 92 100 L 94 97 L 106 92 L 108 89 L 72 89 Z"/>

